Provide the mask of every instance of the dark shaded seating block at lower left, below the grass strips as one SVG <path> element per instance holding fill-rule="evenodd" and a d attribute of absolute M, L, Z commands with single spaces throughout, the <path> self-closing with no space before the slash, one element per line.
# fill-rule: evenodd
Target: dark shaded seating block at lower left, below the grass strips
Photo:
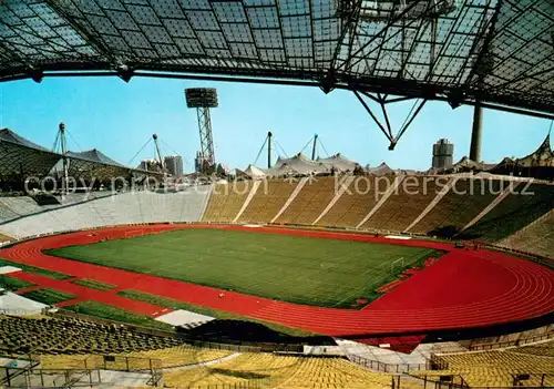
<path fill-rule="evenodd" d="M 173 338 L 74 318 L 0 316 L 0 352 L 111 354 L 167 348 Z"/>

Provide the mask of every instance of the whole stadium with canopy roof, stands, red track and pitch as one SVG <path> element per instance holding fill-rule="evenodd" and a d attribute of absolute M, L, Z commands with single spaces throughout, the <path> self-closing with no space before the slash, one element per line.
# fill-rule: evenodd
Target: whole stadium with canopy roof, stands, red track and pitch
<path fill-rule="evenodd" d="M 480 155 L 483 109 L 554 120 L 550 0 L 2 2 L 0 81 L 72 76 L 351 91 L 390 150 L 428 101 L 471 105 L 470 157 L 274 164 L 268 133 L 230 174 L 214 89 L 185 91 L 186 178 L 157 134 L 131 167 L 0 130 L 0 386 L 554 387 L 550 135 Z"/>

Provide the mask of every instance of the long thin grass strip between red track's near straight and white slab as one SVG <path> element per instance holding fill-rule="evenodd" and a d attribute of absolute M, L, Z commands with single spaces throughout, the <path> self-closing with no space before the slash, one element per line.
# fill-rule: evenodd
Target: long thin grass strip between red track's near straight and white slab
<path fill-rule="evenodd" d="M 268 327 L 269 329 L 273 329 L 274 331 L 281 332 L 285 335 L 290 335 L 290 336 L 296 336 L 296 337 L 314 336 L 314 334 L 311 334 L 309 331 L 305 331 L 304 329 L 285 327 L 285 326 L 276 325 L 273 323 L 264 321 L 264 320 L 248 318 L 248 317 L 240 316 L 237 314 L 226 313 L 223 310 L 217 310 L 217 309 L 212 309 L 212 308 L 206 308 L 206 307 L 199 307 L 197 305 L 192 305 L 188 303 L 178 301 L 178 300 L 174 300 L 172 298 L 165 298 L 162 296 L 155 296 L 155 295 L 151 295 L 148 293 L 143 293 L 143 291 L 138 291 L 138 290 L 121 290 L 121 291 L 117 291 L 116 295 L 120 295 L 120 296 L 126 297 L 126 298 L 131 298 L 134 300 L 140 300 L 140 301 L 144 301 L 144 303 L 158 305 L 158 306 L 165 307 L 165 308 L 185 309 L 185 310 L 189 310 L 189 311 L 193 311 L 196 314 L 212 316 L 212 317 L 215 317 L 216 319 L 222 319 L 222 320 L 244 320 L 244 321 L 258 323 L 258 324 L 261 324 L 261 325 Z"/>

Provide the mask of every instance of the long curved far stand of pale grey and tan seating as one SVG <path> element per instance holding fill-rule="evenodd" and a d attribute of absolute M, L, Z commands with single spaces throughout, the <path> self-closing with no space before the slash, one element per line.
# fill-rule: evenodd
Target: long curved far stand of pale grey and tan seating
<path fill-rule="evenodd" d="M 403 232 L 410 227 L 409 233 L 502 242 L 505 247 L 544 256 L 554 253 L 554 237 L 550 234 L 552 218 L 533 223 L 554 209 L 554 185 L 527 187 L 526 183 L 521 183 L 514 193 L 500 196 L 507 181 L 459 177 L 455 191 L 437 197 L 437 192 L 450 178 L 404 176 L 399 178 L 402 181 L 398 190 L 376 208 L 393 180 L 394 176 L 358 176 L 350 183 L 346 181 L 347 191 L 332 203 L 340 184 L 336 185 L 335 177 L 318 177 L 307 182 L 275 222 L 310 225 L 317 221 L 318 226 L 357 227 L 369 215 L 361 228 Z M 409 181 L 413 182 L 408 185 Z M 189 187 L 177 193 L 138 191 L 113 195 L 103 192 L 93 194 L 88 201 L 84 194 L 75 193 L 65 196 L 62 204 L 44 206 L 29 196 L 0 197 L 0 234 L 22 238 L 120 224 L 230 223 L 245 204 L 252 185 L 246 181 Z M 271 222 L 297 187 L 297 182 L 261 182 L 237 222 Z M 434 206 L 424 213 L 430 204 Z M 318 219 L 328 206 L 330 208 Z M 464 229 L 470 222 L 472 225 Z"/>

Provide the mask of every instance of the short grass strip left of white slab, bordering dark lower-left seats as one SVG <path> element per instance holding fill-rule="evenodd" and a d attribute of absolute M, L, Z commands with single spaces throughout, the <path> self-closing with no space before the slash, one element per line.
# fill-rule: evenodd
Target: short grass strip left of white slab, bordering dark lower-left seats
<path fill-rule="evenodd" d="M 65 306 L 63 307 L 63 309 L 69 309 L 78 314 L 95 316 L 107 320 L 126 323 L 134 326 L 150 327 L 166 331 L 173 330 L 172 326 L 162 321 L 156 321 L 151 317 L 111 307 L 109 305 L 96 301 L 83 301 L 75 305 Z"/>

